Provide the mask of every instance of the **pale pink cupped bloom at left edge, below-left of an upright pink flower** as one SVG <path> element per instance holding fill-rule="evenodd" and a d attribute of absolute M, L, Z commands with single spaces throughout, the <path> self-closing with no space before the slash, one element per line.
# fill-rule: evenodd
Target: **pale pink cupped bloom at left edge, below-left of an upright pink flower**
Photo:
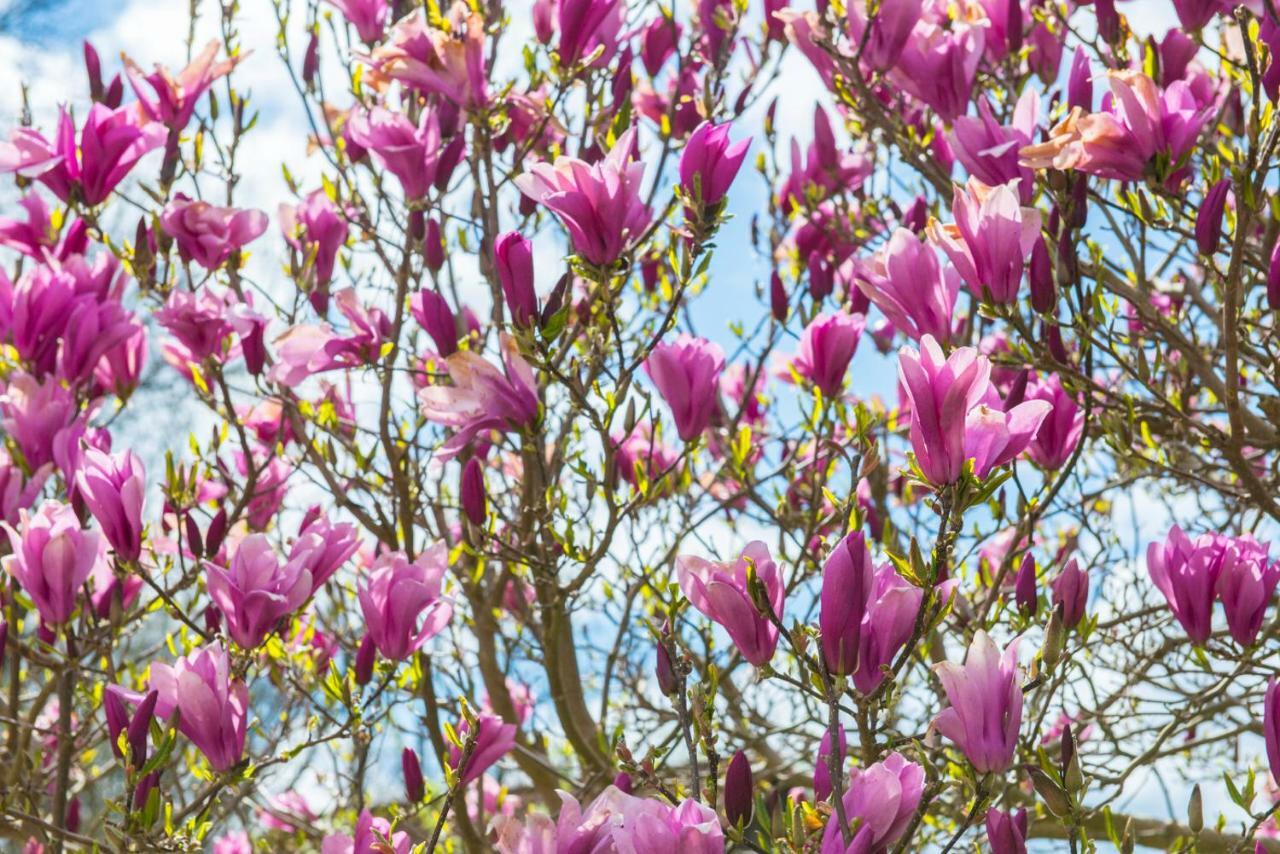
<path fill-rule="evenodd" d="M 4 571 L 22 585 L 42 622 L 59 626 L 76 611 L 79 590 L 99 560 L 97 531 L 81 529 L 69 504 L 46 501 L 35 513 L 19 513 L 15 529 L 3 524 L 10 554 Z"/>

